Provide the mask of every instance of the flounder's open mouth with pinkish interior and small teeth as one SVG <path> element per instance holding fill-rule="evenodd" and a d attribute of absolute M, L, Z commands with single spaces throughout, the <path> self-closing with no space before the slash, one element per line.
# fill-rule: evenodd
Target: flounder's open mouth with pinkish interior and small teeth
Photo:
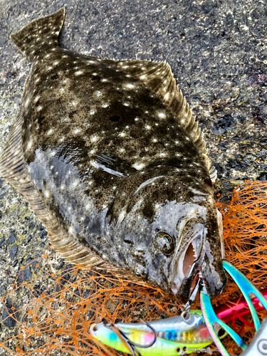
<path fill-rule="evenodd" d="M 198 273 L 201 271 L 201 261 L 204 259 L 204 226 L 198 231 L 175 263 L 174 278 L 171 284 L 172 293 L 177 298 L 186 299 L 197 283 Z M 185 290 L 187 292 L 185 293 Z"/>

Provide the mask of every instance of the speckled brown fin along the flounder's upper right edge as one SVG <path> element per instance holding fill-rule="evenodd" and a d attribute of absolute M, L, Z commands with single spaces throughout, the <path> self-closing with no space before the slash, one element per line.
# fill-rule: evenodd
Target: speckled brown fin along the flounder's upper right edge
<path fill-rule="evenodd" d="M 186 98 L 177 85 L 172 70 L 166 62 L 155 61 L 118 61 L 117 66 L 133 78 L 141 80 L 147 88 L 168 106 L 179 124 L 194 142 L 207 169 L 210 161 L 206 153 L 206 143 L 196 117 L 189 108 Z M 212 171 L 213 172 L 213 171 Z M 214 177 L 213 177 L 214 178 Z"/>

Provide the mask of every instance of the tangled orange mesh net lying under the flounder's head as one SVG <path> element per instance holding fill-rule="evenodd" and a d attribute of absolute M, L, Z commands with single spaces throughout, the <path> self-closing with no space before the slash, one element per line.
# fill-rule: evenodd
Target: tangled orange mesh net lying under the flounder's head
<path fill-rule="evenodd" d="M 241 184 L 234 190 L 231 202 L 217 205 L 224 218 L 226 259 L 259 289 L 266 288 L 267 182 Z M 130 323 L 179 313 L 180 305 L 161 290 L 70 264 L 55 271 L 58 259 L 50 249 L 43 257 L 31 261 L 24 267 L 31 268 L 31 281 L 25 281 L 21 271 L 1 299 L 4 305 L 1 323 L 6 330 L 0 340 L 3 355 L 118 355 L 90 337 L 92 323 L 104 317 L 112 322 Z M 239 295 L 236 284 L 229 278 L 226 290 L 213 304 L 220 305 Z M 22 298 L 23 307 L 19 308 Z M 198 301 L 193 308 L 199 308 Z M 265 315 L 261 312 L 261 319 Z M 241 330 L 247 341 L 253 337 L 249 322 L 248 319 Z M 236 322 L 235 327 L 239 326 Z M 231 355 L 239 355 L 240 349 L 230 337 L 224 339 L 224 345 Z M 216 347 L 210 347 L 209 355 L 212 351 L 213 355 L 219 355 Z"/>

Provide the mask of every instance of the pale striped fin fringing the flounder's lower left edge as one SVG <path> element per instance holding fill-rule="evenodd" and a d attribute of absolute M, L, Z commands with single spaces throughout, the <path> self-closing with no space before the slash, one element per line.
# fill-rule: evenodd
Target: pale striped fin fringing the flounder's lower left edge
<path fill-rule="evenodd" d="M 58 222 L 53 212 L 48 209 L 46 202 L 43 201 L 40 192 L 30 177 L 24 159 L 21 138 L 22 124 L 23 111 L 21 110 L 11 128 L 4 151 L 0 155 L 0 177 L 12 184 L 28 201 L 31 209 L 38 215 L 43 226 L 46 227 L 51 244 L 68 262 L 81 264 L 88 268 L 100 266 L 105 261 L 95 256 L 89 246 L 83 246 L 76 236 L 69 234 Z"/>

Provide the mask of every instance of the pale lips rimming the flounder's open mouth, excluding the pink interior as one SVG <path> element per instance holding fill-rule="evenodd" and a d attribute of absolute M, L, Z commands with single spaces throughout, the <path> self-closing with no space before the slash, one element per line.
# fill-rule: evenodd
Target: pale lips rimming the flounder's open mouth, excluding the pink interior
<path fill-rule="evenodd" d="M 187 273 L 185 275 L 183 272 L 179 273 L 179 268 L 181 268 L 181 265 L 183 264 L 184 256 L 185 253 L 187 252 L 187 249 L 189 248 L 190 244 L 192 244 L 194 241 L 196 241 L 199 238 L 199 234 L 197 236 L 194 236 L 192 239 L 190 239 L 188 244 L 185 246 L 184 251 L 182 251 L 179 258 L 177 259 L 177 263 L 175 263 L 173 266 L 173 271 L 174 268 L 176 267 L 177 273 L 175 273 L 175 276 L 172 279 L 171 290 L 175 298 L 179 298 L 180 300 L 188 300 L 192 282 L 194 281 L 194 278 L 197 276 L 197 273 L 201 271 L 201 263 L 204 261 L 204 256 L 205 256 L 204 241 L 206 240 L 206 229 L 204 226 L 201 229 L 201 232 L 202 232 L 201 246 L 199 248 L 197 259 L 194 260 L 192 266 L 189 268 Z"/>

